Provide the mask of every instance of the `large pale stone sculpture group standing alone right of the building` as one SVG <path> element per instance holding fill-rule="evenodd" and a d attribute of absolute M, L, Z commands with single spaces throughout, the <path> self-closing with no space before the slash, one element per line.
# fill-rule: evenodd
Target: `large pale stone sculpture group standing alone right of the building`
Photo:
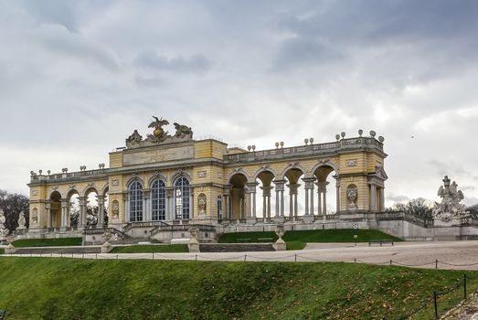
<path fill-rule="evenodd" d="M 468 217 L 465 206 L 460 204 L 463 199 L 462 190 L 458 190 L 456 182 L 450 184 L 450 178 L 443 178 L 443 186 L 438 189 L 438 196 L 441 203 L 435 202 L 433 208 L 433 219 L 440 221 L 439 224 L 459 224 L 461 218 Z M 435 222 L 436 224 L 436 222 Z"/>

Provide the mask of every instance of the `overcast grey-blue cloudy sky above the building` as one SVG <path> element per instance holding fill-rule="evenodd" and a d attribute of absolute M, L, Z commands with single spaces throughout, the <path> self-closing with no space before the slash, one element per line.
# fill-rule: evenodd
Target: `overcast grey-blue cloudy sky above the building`
<path fill-rule="evenodd" d="M 152 115 L 258 149 L 385 137 L 387 204 L 478 203 L 477 1 L 0 0 L 0 188 L 108 164 Z"/>

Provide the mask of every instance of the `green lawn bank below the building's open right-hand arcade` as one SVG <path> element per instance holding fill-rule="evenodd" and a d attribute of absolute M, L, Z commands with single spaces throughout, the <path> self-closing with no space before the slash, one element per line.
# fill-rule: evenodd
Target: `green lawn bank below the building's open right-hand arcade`
<path fill-rule="evenodd" d="M 357 234 L 357 242 L 367 242 L 369 240 L 394 240 L 401 241 L 399 238 L 374 229 L 318 229 L 303 231 L 287 231 L 282 239 L 287 244 L 287 250 L 302 250 L 306 242 L 354 242 L 354 235 Z M 264 238 L 277 240 L 274 231 L 264 232 L 236 232 L 225 233 L 218 239 L 219 243 L 238 243 L 238 242 L 263 242 Z"/>

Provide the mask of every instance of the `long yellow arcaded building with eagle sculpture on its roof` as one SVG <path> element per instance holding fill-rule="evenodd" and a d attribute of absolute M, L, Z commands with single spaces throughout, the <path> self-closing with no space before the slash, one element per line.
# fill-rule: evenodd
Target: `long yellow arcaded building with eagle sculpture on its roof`
<path fill-rule="evenodd" d="M 30 230 L 69 229 L 74 195 L 80 200 L 78 227 L 85 228 L 90 193 L 98 200 L 98 224 L 107 213 L 108 224 L 119 230 L 196 222 L 313 223 L 325 219 L 329 193 L 335 193 L 335 216 L 384 209 L 387 155 L 374 132 L 257 151 L 195 140 L 191 128 L 178 123 L 169 134 L 168 124 L 155 118 L 145 138 L 135 130 L 125 147 L 110 153 L 109 167 L 31 172 Z"/>

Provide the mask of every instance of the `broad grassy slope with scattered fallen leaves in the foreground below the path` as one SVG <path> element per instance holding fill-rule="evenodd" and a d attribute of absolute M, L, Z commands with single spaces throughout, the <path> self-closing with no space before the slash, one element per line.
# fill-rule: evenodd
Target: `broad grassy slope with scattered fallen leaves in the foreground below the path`
<path fill-rule="evenodd" d="M 11 320 L 397 318 L 461 276 L 345 263 L 4 257 L 0 308 Z"/>

